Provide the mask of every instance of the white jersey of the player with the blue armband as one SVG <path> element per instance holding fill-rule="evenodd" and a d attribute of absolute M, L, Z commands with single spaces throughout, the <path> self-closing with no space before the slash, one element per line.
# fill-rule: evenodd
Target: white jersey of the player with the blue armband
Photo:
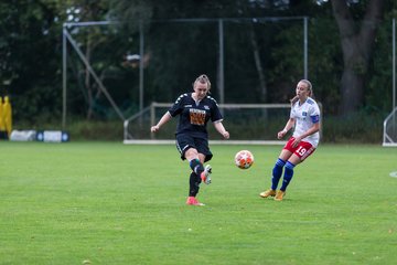
<path fill-rule="evenodd" d="M 320 123 L 319 105 L 311 97 L 308 97 L 302 105 L 300 105 L 300 102 L 298 100 L 291 107 L 290 117 L 296 120 L 292 137 L 300 136 L 313 127 L 314 124 Z M 320 140 L 320 134 L 318 131 L 303 138 L 302 140 L 310 142 L 313 147 L 316 147 Z"/>

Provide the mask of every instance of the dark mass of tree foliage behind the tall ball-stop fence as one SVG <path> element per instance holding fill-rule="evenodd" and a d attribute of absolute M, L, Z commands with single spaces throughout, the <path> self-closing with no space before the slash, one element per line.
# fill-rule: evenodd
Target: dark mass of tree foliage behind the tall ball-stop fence
<path fill-rule="evenodd" d="M 139 68 L 126 64 L 125 56 L 139 53 L 140 29 L 144 36 L 146 106 L 153 100 L 173 100 L 190 91 L 192 81 L 202 73 L 208 74 L 213 95 L 218 97 L 218 26 L 223 19 L 225 102 L 287 103 L 297 81 L 303 77 L 303 20 L 292 18 L 307 17 L 308 77 L 324 112 L 388 112 L 391 100 L 384 98 L 391 96 L 391 19 L 397 12 L 394 2 L 383 0 L 384 11 L 372 17 L 368 12 L 374 12 L 374 1 L 350 6 L 343 6 L 344 0 L 316 2 L 320 1 L 2 1 L 1 94 L 11 96 L 17 119 L 60 119 L 63 25 L 107 20 L 118 23 L 67 30 L 124 113 L 138 110 Z M 343 13 L 336 3 L 344 8 Z M 369 32 L 372 36 L 353 34 L 348 42 L 348 34 L 342 31 L 347 28 L 342 22 L 351 24 L 352 34 L 373 25 L 376 29 Z M 67 52 L 68 112 L 88 118 L 115 117 L 108 99 L 69 44 Z M 360 62 L 364 62 L 363 67 L 357 67 Z M 358 93 L 353 97 L 345 93 L 352 88 L 346 71 L 361 80 L 361 85 L 353 86 Z M 354 104 L 350 104 L 352 98 Z"/>

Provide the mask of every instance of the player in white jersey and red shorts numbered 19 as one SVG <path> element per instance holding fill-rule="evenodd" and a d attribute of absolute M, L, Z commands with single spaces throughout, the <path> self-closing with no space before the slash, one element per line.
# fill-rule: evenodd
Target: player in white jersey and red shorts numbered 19
<path fill-rule="evenodd" d="M 287 187 L 293 177 L 293 168 L 312 155 L 319 145 L 320 108 L 311 97 L 313 94 L 312 85 L 309 81 L 301 80 L 296 91 L 297 95 L 291 99 L 290 118 L 285 128 L 278 132 L 277 138 L 281 139 L 292 127 L 294 130 L 272 169 L 271 187 L 259 194 L 261 198 L 275 197 L 276 201 L 282 201 Z M 277 191 L 283 168 L 282 184 Z"/>

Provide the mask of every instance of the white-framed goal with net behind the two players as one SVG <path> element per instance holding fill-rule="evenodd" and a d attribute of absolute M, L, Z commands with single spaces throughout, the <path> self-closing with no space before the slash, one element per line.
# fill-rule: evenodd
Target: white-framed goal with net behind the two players
<path fill-rule="evenodd" d="M 129 117 L 124 123 L 125 144 L 172 144 L 178 117 L 172 118 L 160 131 L 150 132 L 171 103 L 152 103 L 142 112 Z M 210 141 L 213 144 L 247 145 L 269 144 L 283 145 L 277 139 L 277 132 L 283 128 L 290 113 L 289 104 L 219 104 L 224 115 L 224 125 L 230 132 L 225 141 L 215 128 L 208 124 Z"/>

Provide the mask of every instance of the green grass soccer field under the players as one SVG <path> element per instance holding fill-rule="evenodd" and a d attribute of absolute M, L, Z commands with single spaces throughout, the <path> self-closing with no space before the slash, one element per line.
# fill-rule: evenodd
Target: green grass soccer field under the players
<path fill-rule="evenodd" d="M 396 148 L 320 146 L 260 199 L 280 149 L 212 146 L 197 208 L 174 146 L 0 142 L 0 264 L 397 264 Z"/>

